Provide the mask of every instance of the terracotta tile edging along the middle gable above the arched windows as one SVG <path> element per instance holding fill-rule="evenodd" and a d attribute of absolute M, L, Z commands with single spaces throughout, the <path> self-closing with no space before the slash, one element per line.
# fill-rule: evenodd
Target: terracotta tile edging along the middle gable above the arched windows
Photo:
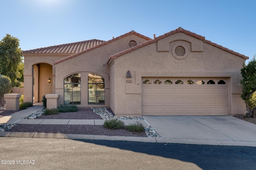
<path fill-rule="evenodd" d="M 88 51 L 91 51 L 91 50 L 93 50 L 93 49 L 96 49 L 96 48 L 98 48 L 98 47 L 101 47 L 101 46 L 103 46 L 103 45 L 106 45 L 106 44 L 108 44 L 108 43 L 111 43 L 111 42 L 113 42 L 113 41 L 116 41 L 116 40 L 118 40 L 118 39 L 120 39 L 120 38 L 126 37 L 126 36 L 128 36 L 128 35 L 132 35 L 132 34 L 133 34 L 133 35 L 136 35 L 136 36 L 138 36 L 138 37 L 141 37 L 141 38 L 143 38 L 143 39 L 146 39 L 146 40 L 148 40 L 148 41 L 152 40 L 151 38 L 146 37 L 146 36 L 144 36 L 144 35 L 142 35 L 142 34 L 140 34 L 140 33 L 136 33 L 135 31 L 132 30 L 132 31 L 130 31 L 130 32 L 124 34 L 124 35 L 120 35 L 119 37 L 110 39 L 110 40 L 108 40 L 108 41 L 105 41 L 104 43 L 100 43 L 100 44 L 98 44 L 98 45 L 96 45 L 96 46 L 94 46 L 94 47 L 88 48 L 88 49 L 86 49 L 86 50 L 84 50 L 84 51 L 80 51 L 80 52 L 78 52 L 78 53 L 76 53 L 76 54 L 74 54 L 74 55 L 70 55 L 70 56 L 68 56 L 68 57 L 65 57 L 64 59 L 60 59 L 60 60 L 58 60 L 58 61 L 55 61 L 55 62 L 53 63 L 53 65 L 58 64 L 58 63 L 61 63 L 62 61 L 71 59 L 71 58 L 73 58 L 73 57 L 76 57 L 76 56 L 78 56 L 78 55 L 81 55 L 81 54 L 83 54 L 83 53 L 86 53 L 86 52 L 88 52 Z"/>

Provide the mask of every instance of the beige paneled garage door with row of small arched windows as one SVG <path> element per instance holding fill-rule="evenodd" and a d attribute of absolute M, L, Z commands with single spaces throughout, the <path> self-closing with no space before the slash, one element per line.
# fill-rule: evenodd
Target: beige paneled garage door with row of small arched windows
<path fill-rule="evenodd" d="M 228 115 L 227 78 L 142 78 L 142 115 Z"/>

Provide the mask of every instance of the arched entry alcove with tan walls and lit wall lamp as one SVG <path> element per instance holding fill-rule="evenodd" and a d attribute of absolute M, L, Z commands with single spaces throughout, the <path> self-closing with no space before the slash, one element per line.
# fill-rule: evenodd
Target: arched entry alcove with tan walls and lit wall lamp
<path fill-rule="evenodd" d="M 45 94 L 52 94 L 52 65 L 39 63 L 33 65 L 34 102 L 41 102 Z"/>

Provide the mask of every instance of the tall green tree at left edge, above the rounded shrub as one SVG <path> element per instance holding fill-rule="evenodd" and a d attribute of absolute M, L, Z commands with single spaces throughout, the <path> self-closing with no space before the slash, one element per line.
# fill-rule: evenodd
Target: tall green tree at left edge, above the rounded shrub
<path fill-rule="evenodd" d="M 21 78 L 19 72 L 22 63 L 22 53 L 19 48 L 19 39 L 6 34 L 0 41 L 0 74 L 8 76 L 12 81 L 12 86 L 17 83 L 17 78 Z"/>

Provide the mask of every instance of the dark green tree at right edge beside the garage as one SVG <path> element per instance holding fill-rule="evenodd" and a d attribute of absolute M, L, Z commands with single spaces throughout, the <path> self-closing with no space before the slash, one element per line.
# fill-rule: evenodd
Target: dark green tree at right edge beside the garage
<path fill-rule="evenodd" d="M 241 68 L 241 74 L 243 79 L 240 81 L 242 85 L 242 95 L 241 98 L 246 104 L 246 115 L 247 117 L 253 117 L 254 113 L 250 108 L 250 100 L 252 100 L 252 95 L 256 92 L 256 60 L 255 55 L 248 64 L 243 65 Z"/>

